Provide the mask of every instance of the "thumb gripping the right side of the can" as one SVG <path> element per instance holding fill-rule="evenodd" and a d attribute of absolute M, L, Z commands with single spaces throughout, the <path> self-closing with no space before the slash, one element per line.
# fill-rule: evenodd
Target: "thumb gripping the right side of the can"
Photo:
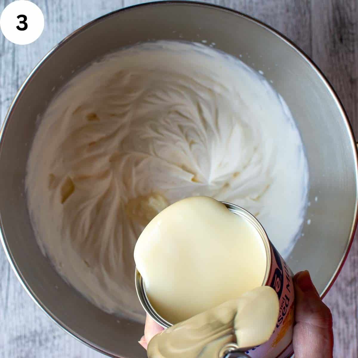
<path fill-rule="evenodd" d="M 294 277 L 295 326 L 293 348 L 295 358 L 332 358 L 332 314 L 322 302 L 308 271 Z"/>

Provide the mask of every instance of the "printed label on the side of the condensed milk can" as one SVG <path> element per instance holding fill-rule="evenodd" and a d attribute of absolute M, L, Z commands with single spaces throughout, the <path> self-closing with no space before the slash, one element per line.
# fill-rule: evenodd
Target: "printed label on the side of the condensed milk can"
<path fill-rule="evenodd" d="M 295 320 L 293 275 L 271 241 L 269 243 L 272 259 L 266 286 L 271 286 L 279 297 L 279 318 L 270 339 L 245 353 L 251 358 L 288 358 L 293 352 L 292 334 Z"/>

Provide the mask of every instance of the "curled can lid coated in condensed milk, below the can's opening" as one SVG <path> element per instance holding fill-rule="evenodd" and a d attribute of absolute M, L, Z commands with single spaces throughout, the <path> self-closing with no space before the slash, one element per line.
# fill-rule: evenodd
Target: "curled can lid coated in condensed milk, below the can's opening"
<path fill-rule="evenodd" d="M 269 340 L 278 316 L 275 290 L 257 287 L 155 335 L 148 357 L 218 358 L 227 345 L 245 351 Z"/>

